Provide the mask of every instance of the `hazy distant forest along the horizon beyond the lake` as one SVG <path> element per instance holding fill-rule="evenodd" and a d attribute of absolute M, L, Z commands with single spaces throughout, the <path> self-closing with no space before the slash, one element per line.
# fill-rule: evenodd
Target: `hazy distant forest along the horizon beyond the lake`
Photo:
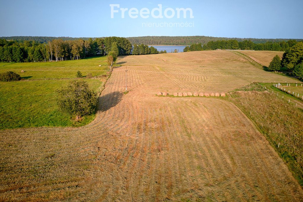
<path fill-rule="evenodd" d="M 72 37 L 46 37 L 46 36 L 11 36 L 11 37 L 0 37 L 6 40 L 17 40 L 17 41 L 36 41 L 38 43 L 47 43 L 54 39 L 62 39 L 63 41 L 68 40 L 78 40 L 82 39 L 87 41 L 89 37 L 72 38 Z M 105 37 L 100 37 L 105 38 Z M 96 38 L 92 38 L 95 40 Z M 128 37 L 127 38 L 132 45 L 134 44 L 147 44 L 147 45 L 191 45 L 191 44 L 206 44 L 209 41 L 218 40 L 236 40 L 238 42 L 242 41 L 252 41 L 255 44 L 265 43 L 265 42 L 281 42 L 288 41 L 290 39 L 264 39 L 264 38 L 227 38 L 227 37 L 210 37 L 210 36 L 142 36 L 142 37 Z M 296 41 L 301 41 L 302 39 L 294 39 Z"/>

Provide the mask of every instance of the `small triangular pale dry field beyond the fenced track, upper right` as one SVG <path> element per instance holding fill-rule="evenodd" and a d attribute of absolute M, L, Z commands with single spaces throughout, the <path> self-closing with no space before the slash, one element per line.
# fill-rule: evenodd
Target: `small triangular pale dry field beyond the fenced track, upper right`
<path fill-rule="evenodd" d="M 269 63 L 271 62 L 272 58 L 275 55 L 279 55 L 282 58 L 283 51 L 238 51 L 241 52 L 251 59 L 255 60 L 256 62 L 260 63 L 263 66 L 268 67 Z"/>

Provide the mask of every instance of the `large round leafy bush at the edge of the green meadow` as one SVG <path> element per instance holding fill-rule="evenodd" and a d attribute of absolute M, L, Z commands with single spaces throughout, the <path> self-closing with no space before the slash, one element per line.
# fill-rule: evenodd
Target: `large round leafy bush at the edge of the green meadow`
<path fill-rule="evenodd" d="M 90 90 L 84 80 L 73 80 L 56 90 L 59 108 L 78 121 L 84 115 L 92 114 L 97 106 L 97 94 Z"/>

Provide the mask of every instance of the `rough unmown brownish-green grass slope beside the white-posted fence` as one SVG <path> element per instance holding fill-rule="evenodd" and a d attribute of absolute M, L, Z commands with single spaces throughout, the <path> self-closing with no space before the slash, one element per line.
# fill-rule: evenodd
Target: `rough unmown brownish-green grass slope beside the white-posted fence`
<path fill-rule="evenodd" d="M 228 100 L 255 123 L 303 186 L 303 110 L 288 104 L 282 96 L 264 92 L 258 84 L 238 90 Z"/>

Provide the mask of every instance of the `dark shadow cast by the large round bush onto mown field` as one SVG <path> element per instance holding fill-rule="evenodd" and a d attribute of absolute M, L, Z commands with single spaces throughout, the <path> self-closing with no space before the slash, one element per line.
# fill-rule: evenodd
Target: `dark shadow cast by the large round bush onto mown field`
<path fill-rule="evenodd" d="M 103 95 L 99 98 L 99 107 L 100 111 L 107 111 L 112 107 L 115 107 L 122 99 L 123 93 L 120 91 L 115 91 Z"/>

